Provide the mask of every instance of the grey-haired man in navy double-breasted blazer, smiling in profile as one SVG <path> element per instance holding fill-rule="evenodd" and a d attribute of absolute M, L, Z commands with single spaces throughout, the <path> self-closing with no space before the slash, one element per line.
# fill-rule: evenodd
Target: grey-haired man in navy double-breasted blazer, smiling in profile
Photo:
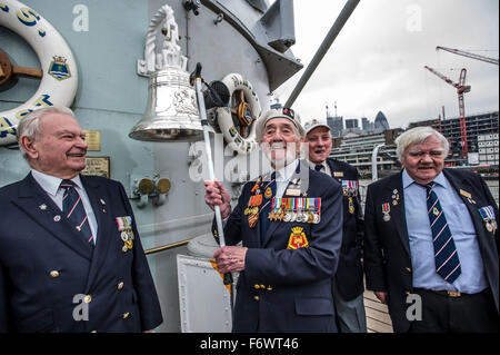
<path fill-rule="evenodd" d="M 0 332 L 147 332 L 162 316 L 120 183 L 80 176 L 87 144 L 70 109 L 27 115 L 31 172 L 0 189 Z"/>

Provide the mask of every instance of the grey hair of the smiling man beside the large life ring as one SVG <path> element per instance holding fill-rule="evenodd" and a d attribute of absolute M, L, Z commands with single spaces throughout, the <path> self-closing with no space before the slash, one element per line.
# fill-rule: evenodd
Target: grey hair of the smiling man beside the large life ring
<path fill-rule="evenodd" d="M 16 137 L 18 139 L 19 149 L 21 150 L 22 157 L 28 160 L 28 155 L 26 154 L 24 148 L 22 147 L 21 137 L 26 136 L 31 139 L 39 139 L 41 136 L 40 131 L 40 119 L 49 114 L 60 114 L 60 115 L 69 115 L 74 118 L 74 114 L 71 109 L 63 106 L 49 106 L 26 115 L 19 122 L 18 129 L 16 132 Z"/>

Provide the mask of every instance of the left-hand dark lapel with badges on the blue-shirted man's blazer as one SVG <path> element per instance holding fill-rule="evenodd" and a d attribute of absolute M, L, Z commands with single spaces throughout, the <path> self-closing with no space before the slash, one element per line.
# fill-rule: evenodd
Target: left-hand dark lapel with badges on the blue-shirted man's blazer
<path fill-rule="evenodd" d="M 392 204 L 392 195 L 394 189 L 399 193 L 399 201 L 398 205 Z M 402 170 L 400 174 L 394 175 L 393 179 L 390 180 L 389 184 L 384 186 L 382 203 L 390 204 L 390 216 L 391 216 L 391 225 L 394 227 L 396 233 L 401 240 L 404 250 L 410 257 L 410 239 L 408 237 L 408 228 L 407 228 L 407 217 L 404 211 L 404 190 L 402 186 Z M 382 208 L 382 206 L 378 206 L 377 208 Z M 386 224 L 387 221 L 382 221 Z"/>

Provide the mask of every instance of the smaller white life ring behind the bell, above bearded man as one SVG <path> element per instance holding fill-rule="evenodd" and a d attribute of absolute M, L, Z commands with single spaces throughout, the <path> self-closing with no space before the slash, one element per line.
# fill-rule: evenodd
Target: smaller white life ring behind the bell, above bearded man
<path fill-rule="evenodd" d="M 259 146 L 256 140 L 256 120 L 261 112 L 259 97 L 251 82 L 239 73 L 226 76 L 222 82 L 229 89 L 230 102 L 236 101 L 236 105 L 217 108 L 220 130 L 233 150 L 248 155 Z M 233 95 L 236 95 L 234 98 Z M 236 127 L 237 125 L 240 129 Z"/>

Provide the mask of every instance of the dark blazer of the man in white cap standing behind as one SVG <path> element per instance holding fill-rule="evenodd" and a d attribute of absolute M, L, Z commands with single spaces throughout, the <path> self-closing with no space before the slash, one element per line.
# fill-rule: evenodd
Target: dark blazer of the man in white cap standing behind
<path fill-rule="evenodd" d="M 330 167 L 331 177 L 340 184 L 342 184 L 342 180 L 358 181 L 358 169 L 353 166 L 332 158 L 328 158 L 327 164 Z M 349 207 L 349 199 L 351 199 L 351 207 Z M 356 189 L 354 194 L 344 189 L 342 247 L 340 249 L 339 268 L 336 273 L 337 288 L 344 300 L 351 300 L 364 290 L 363 267 L 361 265 L 363 223 L 359 188 Z"/>

